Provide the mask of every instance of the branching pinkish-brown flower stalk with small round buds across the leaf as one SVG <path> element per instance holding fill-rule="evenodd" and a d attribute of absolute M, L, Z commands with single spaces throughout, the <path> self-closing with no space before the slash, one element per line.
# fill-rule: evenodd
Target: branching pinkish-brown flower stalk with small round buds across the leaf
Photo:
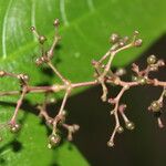
<path fill-rule="evenodd" d="M 76 131 L 79 131 L 80 126 L 77 124 L 69 125 L 65 123 L 66 112 L 64 107 L 69 96 L 71 95 L 74 89 L 83 86 L 101 85 L 102 86 L 101 100 L 103 102 L 107 102 L 108 104 L 111 104 L 111 106 L 113 106 L 113 110 L 111 110 L 110 113 L 115 118 L 115 127 L 111 134 L 110 141 L 107 142 L 107 145 L 112 147 L 114 146 L 114 138 L 116 133 L 121 134 L 124 132 L 124 128 L 120 122 L 120 116 L 122 116 L 123 121 L 125 122 L 125 126 L 127 129 L 132 131 L 135 128 L 134 123 L 129 121 L 125 114 L 126 104 L 121 103 L 123 94 L 134 86 L 152 85 L 162 87 L 163 92 L 158 100 L 155 100 L 151 103 L 148 110 L 154 113 L 155 117 L 157 118 L 158 126 L 164 127 L 163 122 L 160 120 L 162 115 L 160 108 L 163 107 L 164 97 L 166 97 L 166 82 L 151 77 L 152 72 L 156 72 L 158 71 L 159 68 L 166 66 L 164 60 L 157 60 L 155 55 L 149 55 L 147 58 L 147 66 L 144 70 L 141 70 L 138 65 L 133 63 L 132 71 L 134 72 L 134 74 L 132 76 L 132 80 L 128 82 L 122 80 L 122 75 L 126 73 L 124 69 L 120 69 L 115 72 L 112 71 L 112 62 L 121 51 L 131 48 L 138 48 L 142 45 L 142 39 L 137 38 L 138 37 L 137 31 L 134 32 L 132 38 L 120 37 L 118 34 L 113 33 L 110 38 L 111 48 L 108 49 L 108 51 L 98 61 L 95 60 L 92 61 L 92 65 L 94 68 L 94 80 L 90 82 L 72 83 L 70 80 L 64 77 L 51 62 L 54 55 L 55 48 L 61 40 L 61 37 L 59 35 L 58 31 L 60 25 L 58 19 L 55 19 L 53 25 L 55 28 L 54 40 L 49 50 L 44 49 L 46 38 L 44 35 L 39 34 L 34 27 L 31 27 L 31 31 L 38 38 L 39 44 L 41 46 L 41 56 L 35 60 L 37 65 L 39 66 L 42 64 L 46 64 L 60 79 L 61 84 L 53 84 L 51 86 L 31 86 L 29 84 L 29 76 L 27 74 L 22 73 L 14 74 L 6 71 L 0 71 L 0 77 L 11 76 L 18 79 L 20 82 L 20 91 L 10 91 L 0 93 L 1 96 L 20 95 L 20 98 L 17 102 L 17 106 L 12 117 L 10 118 L 9 122 L 7 122 L 7 124 L 1 124 L 1 126 L 3 125 L 4 127 L 10 128 L 12 133 L 17 133 L 18 131 L 20 131 L 20 124 L 18 124 L 17 122 L 17 116 L 20 106 L 22 105 L 23 98 L 29 93 L 44 93 L 45 100 L 42 104 L 39 104 L 37 108 L 39 110 L 39 117 L 44 118 L 45 124 L 50 128 L 52 128 L 52 134 L 49 136 L 48 147 L 49 148 L 54 147 L 60 143 L 61 141 L 60 127 L 63 127 L 68 131 L 68 139 L 72 141 L 73 134 Z M 121 87 L 120 93 L 115 97 L 108 96 L 107 90 L 108 84 Z M 64 91 L 64 96 L 58 114 L 54 117 L 51 117 L 49 116 L 46 111 L 46 105 L 51 102 L 48 97 L 49 96 L 48 94 L 58 93 L 60 91 Z"/>

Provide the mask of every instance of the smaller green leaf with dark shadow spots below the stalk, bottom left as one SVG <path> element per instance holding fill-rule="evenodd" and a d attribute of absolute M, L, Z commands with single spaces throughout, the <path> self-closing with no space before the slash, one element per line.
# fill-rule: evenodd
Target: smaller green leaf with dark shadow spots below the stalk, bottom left
<path fill-rule="evenodd" d="M 46 129 L 40 121 L 32 114 L 22 115 L 24 120 L 21 133 L 12 136 L 7 131 L 2 132 L 4 142 L 0 146 L 0 164 L 19 166 L 34 165 L 89 165 L 77 148 L 65 142 L 56 147 L 46 147 Z M 32 123 L 31 123 L 32 122 Z"/>

